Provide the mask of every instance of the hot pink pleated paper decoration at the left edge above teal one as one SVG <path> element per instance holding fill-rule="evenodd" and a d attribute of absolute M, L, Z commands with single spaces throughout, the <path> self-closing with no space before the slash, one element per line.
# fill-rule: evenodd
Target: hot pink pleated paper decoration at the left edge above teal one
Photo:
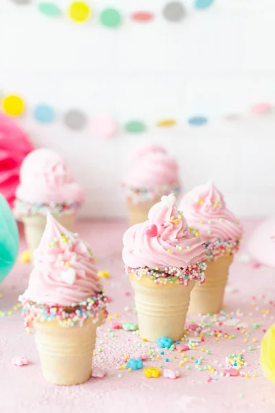
<path fill-rule="evenodd" d="M 8 116 L 0 114 L 0 192 L 12 207 L 23 159 L 34 148 L 28 135 Z"/>

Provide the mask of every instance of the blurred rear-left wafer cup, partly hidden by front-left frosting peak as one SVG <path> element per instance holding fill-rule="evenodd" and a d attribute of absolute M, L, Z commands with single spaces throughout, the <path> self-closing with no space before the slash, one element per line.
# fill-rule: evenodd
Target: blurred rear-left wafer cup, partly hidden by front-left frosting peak
<path fill-rule="evenodd" d="M 75 213 L 70 215 L 55 215 L 54 218 L 69 231 L 74 231 L 74 222 L 76 220 Z M 30 215 L 23 217 L 22 221 L 24 224 L 25 239 L 32 255 L 34 250 L 39 246 L 39 242 L 45 230 L 46 217 L 43 215 Z"/>

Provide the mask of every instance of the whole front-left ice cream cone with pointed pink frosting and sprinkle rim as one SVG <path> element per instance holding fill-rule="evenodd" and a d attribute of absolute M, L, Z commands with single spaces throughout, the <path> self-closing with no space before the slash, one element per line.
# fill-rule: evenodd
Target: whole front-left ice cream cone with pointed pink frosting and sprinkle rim
<path fill-rule="evenodd" d="M 91 376 L 96 329 L 107 317 L 93 251 L 47 215 L 28 288 L 19 297 L 25 327 L 34 327 L 43 376 L 73 385 Z"/>

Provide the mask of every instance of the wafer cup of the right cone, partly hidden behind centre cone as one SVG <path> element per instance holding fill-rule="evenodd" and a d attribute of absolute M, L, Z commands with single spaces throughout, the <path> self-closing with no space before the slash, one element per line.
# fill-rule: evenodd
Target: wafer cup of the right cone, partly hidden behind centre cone
<path fill-rule="evenodd" d="M 234 255 L 223 255 L 217 261 L 207 263 L 206 282 L 196 284 L 190 297 L 189 313 L 219 313 L 223 306 L 223 295 L 228 281 L 228 271 Z"/>

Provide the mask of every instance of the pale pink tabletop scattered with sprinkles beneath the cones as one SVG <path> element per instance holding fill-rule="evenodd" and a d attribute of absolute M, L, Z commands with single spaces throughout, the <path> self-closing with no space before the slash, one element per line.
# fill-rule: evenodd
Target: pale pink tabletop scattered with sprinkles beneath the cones
<path fill-rule="evenodd" d="M 255 222 L 245 222 L 245 239 Z M 104 286 L 112 299 L 109 315 L 118 313 L 117 321 L 135 321 L 133 311 L 133 290 L 123 272 L 121 260 L 122 234 L 126 229 L 124 222 L 79 222 L 77 231 L 89 241 L 99 258 L 98 268 L 110 271 Z M 22 243 L 21 249 L 24 248 Z M 243 242 L 245 250 L 245 240 Z M 239 253 L 239 257 L 240 257 Z M 12 273 L 0 285 L 0 310 L 13 310 L 17 297 L 28 283 L 31 264 L 17 263 Z M 150 343 L 144 343 L 135 332 L 113 330 L 111 321 L 106 322 L 98 331 L 94 366 L 107 372 L 104 379 L 90 379 L 83 385 L 72 387 L 55 386 L 46 383 L 39 366 L 39 357 L 34 343 L 34 334 L 27 334 L 23 328 L 20 310 L 12 315 L 0 317 L 0 412 L 1 413 L 69 413 L 69 412 L 274 412 L 275 385 L 267 381 L 259 366 L 259 348 L 263 328 L 274 322 L 274 305 L 270 300 L 275 297 L 274 271 L 269 268 L 252 268 L 235 258 L 230 273 L 230 290 L 225 297 L 225 310 L 233 318 L 241 319 L 252 328 L 254 321 L 261 322 L 261 327 L 252 329 L 247 342 L 248 328 L 245 332 L 236 330 L 236 326 L 212 325 L 212 330 L 222 330 L 228 335 L 235 334 L 235 339 L 206 336 L 204 343 L 199 343 L 197 350 L 186 352 L 188 366 L 179 366 L 183 360 L 179 352 L 166 351 L 161 359 L 155 358 L 144 363 L 144 367 L 159 366 L 177 368 L 179 379 L 164 377 L 148 379 L 142 370 L 129 372 L 118 370 L 124 363 L 124 356 L 133 356 L 137 351 L 147 351 Z M 125 295 L 130 292 L 131 295 Z M 265 298 L 263 298 L 265 295 Z M 252 299 L 252 296 L 255 296 Z M 236 310 L 239 313 L 236 315 Z M 270 310 L 268 313 L 266 310 Z M 238 314 L 239 314 L 238 313 Z M 267 314 L 268 313 L 268 314 Z M 114 318 L 113 318 L 114 319 Z M 188 322 L 195 319 L 201 323 L 201 317 L 188 317 Z M 254 320 L 254 321 L 253 321 Z M 252 339 L 257 341 L 254 343 Z M 143 346 L 139 347 L 139 346 Z M 155 344 L 153 345 L 155 347 Z M 256 350 L 248 350 L 255 346 Z M 102 351 L 100 352 L 100 348 Z M 201 348 L 210 350 L 210 354 L 201 352 Z M 241 371 L 250 377 L 222 377 L 225 369 L 225 357 L 232 352 L 246 350 L 244 357 L 248 366 Z M 159 354 L 160 350 L 156 350 Z M 14 356 L 26 356 L 30 364 L 24 367 L 13 366 Z M 203 356 L 202 367 L 210 365 L 217 369 L 215 375 L 209 371 L 199 371 L 194 360 Z M 166 357 L 169 359 L 165 361 Z M 175 359 L 173 357 L 176 357 Z M 219 366 L 222 364 L 222 366 Z M 253 377 L 256 374 L 257 377 Z M 208 378 L 212 381 L 208 382 Z M 214 381 L 214 377 L 217 381 Z"/>

